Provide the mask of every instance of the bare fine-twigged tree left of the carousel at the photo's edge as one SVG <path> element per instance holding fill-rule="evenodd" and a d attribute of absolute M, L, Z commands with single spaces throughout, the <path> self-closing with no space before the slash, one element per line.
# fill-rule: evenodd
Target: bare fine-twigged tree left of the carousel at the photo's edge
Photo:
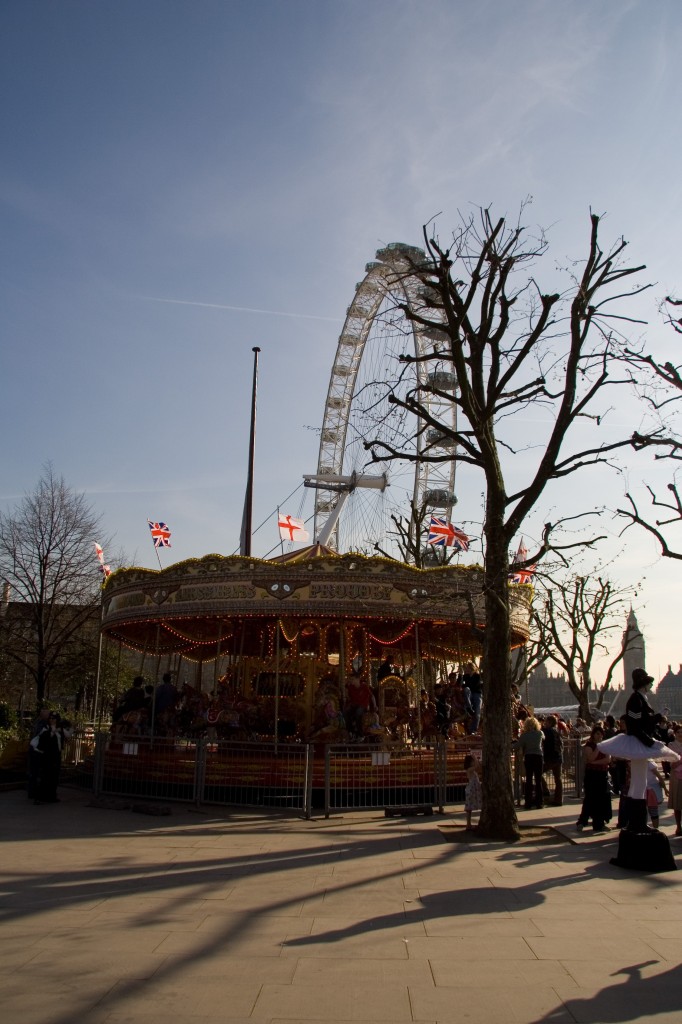
<path fill-rule="evenodd" d="M 85 496 L 56 477 L 51 465 L 32 494 L 0 514 L 0 580 L 11 598 L 4 652 L 33 679 L 39 703 L 59 667 L 73 664 L 84 631 L 89 627 L 97 636 L 98 526 Z"/>

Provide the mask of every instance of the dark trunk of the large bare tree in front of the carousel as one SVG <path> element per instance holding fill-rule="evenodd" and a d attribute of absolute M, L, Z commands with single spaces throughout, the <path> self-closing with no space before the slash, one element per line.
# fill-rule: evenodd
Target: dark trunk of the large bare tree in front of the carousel
<path fill-rule="evenodd" d="M 491 839 L 519 838 L 514 807 L 511 752 L 511 668 L 509 648 L 509 554 L 504 532 L 503 496 L 488 487 L 485 514 L 485 639 L 483 642 L 482 810 L 478 829 Z"/>

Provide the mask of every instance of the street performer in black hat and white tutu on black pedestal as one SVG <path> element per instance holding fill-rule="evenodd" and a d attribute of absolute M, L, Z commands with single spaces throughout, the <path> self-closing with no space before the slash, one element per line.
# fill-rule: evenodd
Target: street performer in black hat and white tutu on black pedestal
<path fill-rule="evenodd" d="M 652 731 L 660 715 L 656 715 L 646 699 L 653 682 L 644 669 L 635 669 L 632 674 L 633 692 L 626 705 L 625 733 L 611 736 L 597 743 L 598 750 L 613 758 L 630 761 L 630 790 L 628 791 L 628 825 L 631 833 L 648 830 L 646 809 L 646 763 L 647 761 L 680 760 L 670 746 L 654 739 Z"/>

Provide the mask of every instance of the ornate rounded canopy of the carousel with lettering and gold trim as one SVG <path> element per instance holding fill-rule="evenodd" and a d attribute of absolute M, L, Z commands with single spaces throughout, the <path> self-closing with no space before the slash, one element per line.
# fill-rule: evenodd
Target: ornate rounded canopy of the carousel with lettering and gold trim
<path fill-rule="evenodd" d="M 329 643 L 342 627 L 360 629 L 380 647 L 418 629 L 423 644 L 469 655 L 485 627 L 482 587 L 480 565 L 419 569 L 322 545 L 271 559 L 206 555 L 118 569 L 103 586 L 102 631 L 135 650 L 209 659 L 262 654 L 278 628 L 286 638 L 324 632 Z M 530 596 L 510 586 L 514 646 L 527 639 Z"/>

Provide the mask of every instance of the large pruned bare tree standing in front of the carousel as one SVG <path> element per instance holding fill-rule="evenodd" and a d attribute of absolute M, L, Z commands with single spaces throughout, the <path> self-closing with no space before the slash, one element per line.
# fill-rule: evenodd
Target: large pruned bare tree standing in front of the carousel
<path fill-rule="evenodd" d="M 534 278 L 532 267 L 546 254 L 547 243 L 543 237 L 530 238 L 520 224 L 494 220 L 489 210 L 482 210 L 462 221 L 447 246 L 426 227 L 426 253 L 411 267 L 421 282 L 422 305 L 399 298 L 395 303 L 417 331 L 436 339 L 432 354 L 404 354 L 403 366 L 426 362 L 422 370 L 430 365 L 437 371 L 446 365 L 457 386 L 441 390 L 437 373 L 422 373 L 412 389 L 394 388 L 390 400 L 414 414 L 415 433 L 433 429 L 434 436 L 450 438 L 451 452 L 455 444 L 460 462 L 475 467 L 484 480 L 485 701 L 479 830 L 498 839 L 519 835 L 510 768 L 509 551 L 549 483 L 608 464 L 615 452 L 631 445 L 629 436 L 599 434 L 604 426 L 599 399 L 607 387 L 629 384 L 615 361 L 612 333 L 612 325 L 622 328 L 628 317 L 611 311 L 611 305 L 648 286 L 627 285 L 643 267 L 623 262 L 624 240 L 604 252 L 599 223 L 592 214 L 587 257 L 561 294 L 544 292 Z M 613 376 L 614 370 L 621 370 L 620 375 Z M 427 392 L 457 403 L 457 429 L 433 417 Z M 519 439 L 517 424 L 529 409 L 539 408 L 549 426 L 544 436 L 534 431 L 528 470 L 530 442 L 527 432 Z M 586 417 L 591 419 L 587 438 L 580 429 Z M 392 444 L 370 436 L 366 447 L 376 461 L 410 455 L 409 445 L 397 438 Z M 525 455 L 522 466 L 516 459 L 520 449 Z M 434 443 L 417 458 L 442 462 L 452 454 Z M 592 507 L 589 494 L 585 502 Z M 546 524 L 540 550 L 529 561 L 557 549 L 554 525 Z"/>

